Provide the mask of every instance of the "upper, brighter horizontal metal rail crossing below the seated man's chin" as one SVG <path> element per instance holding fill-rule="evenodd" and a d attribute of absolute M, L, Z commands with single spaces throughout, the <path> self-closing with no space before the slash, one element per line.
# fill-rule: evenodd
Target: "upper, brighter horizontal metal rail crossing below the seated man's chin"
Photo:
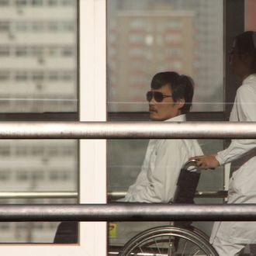
<path fill-rule="evenodd" d="M 1 122 L 0 139 L 255 139 L 256 123 Z"/>

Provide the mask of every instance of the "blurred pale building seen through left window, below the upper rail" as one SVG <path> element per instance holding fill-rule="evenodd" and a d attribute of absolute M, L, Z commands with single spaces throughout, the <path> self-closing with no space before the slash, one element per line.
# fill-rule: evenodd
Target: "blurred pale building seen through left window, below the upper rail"
<path fill-rule="evenodd" d="M 0 203 L 78 202 L 75 197 L 36 199 L 28 195 L 29 192 L 78 192 L 76 140 L 2 140 L 0 159 Z M 5 195 L 27 192 L 28 196 L 5 198 L 3 192 Z M 57 224 L 0 222 L 0 243 L 53 243 Z"/>

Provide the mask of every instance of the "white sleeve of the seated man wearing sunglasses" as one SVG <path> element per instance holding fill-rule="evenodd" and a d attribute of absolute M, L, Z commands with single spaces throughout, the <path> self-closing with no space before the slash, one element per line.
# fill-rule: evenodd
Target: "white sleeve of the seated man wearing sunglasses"
<path fill-rule="evenodd" d="M 182 164 L 187 158 L 184 144 L 177 140 L 164 140 L 157 149 L 154 169 L 147 173 L 147 182 L 140 189 L 128 193 L 125 201 L 169 202 L 174 195 Z"/>

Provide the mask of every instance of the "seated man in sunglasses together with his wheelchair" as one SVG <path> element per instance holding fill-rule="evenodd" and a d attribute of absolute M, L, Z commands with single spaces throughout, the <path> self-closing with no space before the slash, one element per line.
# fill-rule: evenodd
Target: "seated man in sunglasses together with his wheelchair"
<path fill-rule="evenodd" d="M 186 75 L 176 72 L 155 74 L 147 92 L 150 119 L 185 122 L 185 114 L 192 107 L 193 92 L 192 78 Z M 150 140 L 140 174 L 119 202 L 193 203 L 200 173 L 196 167 L 190 169 L 192 163 L 188 159 L 201 152 L 196 140 Z M 133 223 L 129 223 L 128 240 L 119 255 L 217 255 L 206 234 L 191 227 L 191 222 L 156 224 L 150 222 L 150 228 L 142 228 L 144 231 L 134 234 Z M 126 231 L 126 227 L 121 225 L 119 234 L 122 231 Z M 115 242 L 117 240 L 112 240 L 112 244 Z"/>

